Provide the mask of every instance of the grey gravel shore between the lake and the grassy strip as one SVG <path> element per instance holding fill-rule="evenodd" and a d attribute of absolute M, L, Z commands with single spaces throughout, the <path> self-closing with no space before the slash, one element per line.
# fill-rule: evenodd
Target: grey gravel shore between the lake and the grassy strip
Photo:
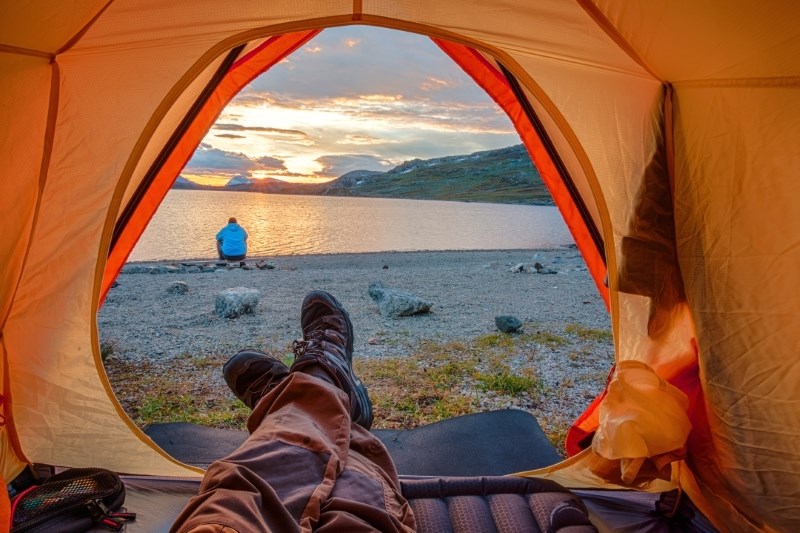
<path fill-rule="evenodd" d="M 613 361 L 610 334 L 601 339 L 579 334 L 609 332 L 610 319 L 573 248 L 298 255 L 248 258 L 247 263 L 255 265 L 260 259 L 273 262 L 275 268 L 179 274 L 123 270 L 98 313 L 101 348 L 118 362 L 147 362 L 154 372 L 169 372 L 172 362 L 187 356 L 216 355 L 224 360 L 222 356 L 243 348 L 289 354 L 292 340 L 301 335 L 303 296 L 322 289 L 336 296 L 350 314 L 356 359 L 409 357 L 421 343 L 489 338 L 498 333 L 497 315 L 517 317 L 525 333 L 560 336 L 564 342 L 533 346 L 535 355 L 525 356 L 524 363 L 535 367 L 545 388 L 559 398 L 553 416 L 560 419 L 580 414 L 602 390 Z M 512 272 L 516 265 L 537 262 L 556 273 Z M 185 294 L 167 292 L 176 281 L 188 285 Z M 381 316 L 367 293 L 375 281 L 432 302 L 431 311 L 402 318 Z M 260 291 L 254 315 L 216 316 L 215 295 L 233 287 Z M 509 358 L 514 357 L 510 353 Z M 521 371 L 519 365 L 512 368 Z M 113 372 L 110 376 L 113 384 Z M 121 400 L 125 404 L 125 398 Z M 535 411 L 553 411 L 544 399 L 533 403 L 538 406 Z M 506 399 L 481 405 L 530 408 Z"/>

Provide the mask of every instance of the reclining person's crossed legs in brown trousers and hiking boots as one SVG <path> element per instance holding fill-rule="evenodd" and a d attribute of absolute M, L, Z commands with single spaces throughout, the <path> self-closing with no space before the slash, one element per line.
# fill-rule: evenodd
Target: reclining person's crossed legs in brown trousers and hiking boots
<path fill-rule="evenodd" d="M 274 362 L 254 356 L 226 364 L 226 381 L 248 405 L 268 392 L 248 420 L 251 436 L 209 468 L 173 531 L 413 530 L 386 448 L 351 419 L 368 425 L 372 416 L 352 373 L 349 317 L 330 295 L 311 293 L 301 323 L 303 349 L 288 379 L 280 381 L 284 370 Z M 246 379 L 256 368 L 272 377 Z"/>

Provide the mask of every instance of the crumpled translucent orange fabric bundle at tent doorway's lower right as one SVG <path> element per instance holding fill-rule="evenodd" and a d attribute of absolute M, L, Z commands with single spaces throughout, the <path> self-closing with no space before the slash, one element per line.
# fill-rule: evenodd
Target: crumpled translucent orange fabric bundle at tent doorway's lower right
<path fill-rule="evenodd" d="M 648 365 L 620 361 L 600 404 L 592 471 L 625 485 L 669 479 L 669 465 L 685 456 L 688 406 L 686 395 Z"/>

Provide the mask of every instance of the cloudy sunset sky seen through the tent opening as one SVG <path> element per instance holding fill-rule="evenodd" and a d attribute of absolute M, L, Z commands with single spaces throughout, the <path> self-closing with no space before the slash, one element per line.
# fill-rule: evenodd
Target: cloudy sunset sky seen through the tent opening
<path fill-rule="evenodd" d="M 182 175 L 321 182 L 520 142 L 503 111 L 429 38 L 324 30 L 246 86 Z"/>

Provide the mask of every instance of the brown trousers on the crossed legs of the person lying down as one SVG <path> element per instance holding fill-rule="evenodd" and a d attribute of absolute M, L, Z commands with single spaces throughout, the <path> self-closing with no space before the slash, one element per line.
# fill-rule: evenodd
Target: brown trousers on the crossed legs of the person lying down
<path fill-rule="evenodd" d="M 383 443 L 335 386 L 294 372 L 256 405 L 250 436 L 212 464 L 173 532 L 413 531 Z"/>

